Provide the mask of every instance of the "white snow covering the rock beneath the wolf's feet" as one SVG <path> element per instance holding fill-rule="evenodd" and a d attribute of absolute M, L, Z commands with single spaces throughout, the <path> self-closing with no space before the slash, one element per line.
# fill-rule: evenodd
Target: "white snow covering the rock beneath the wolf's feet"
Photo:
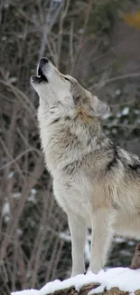
<path fill-rule="evenodd" d="M 107 271 L 100 270 L 98 274 L 89 271 L 86 275 L 79 274 L 68 280 L 54 280 L 47 283 L 41 290 L 23 290 L 12 292 L 12 295 L 46 295 L 53 293 L 55 290 L 61 290 L 74 286 L 77 291 L 85 284 L 100 283 L 96 289 L 90 290 L 89 295 L 102 292 L 105 289 L 117 287 L 122 291 L 134 293 L 140 290 L 140 270 L 130 270 L 128 268 L 115 268 Z"/>

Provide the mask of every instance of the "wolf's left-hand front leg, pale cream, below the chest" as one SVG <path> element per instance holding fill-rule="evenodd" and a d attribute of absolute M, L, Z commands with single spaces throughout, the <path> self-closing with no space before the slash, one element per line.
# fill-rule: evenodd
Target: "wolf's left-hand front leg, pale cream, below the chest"
<path fill-rule="evenodd" d="M 71 235 L 71 256 L 72 256 L 72 272 L 71 277 L 84 273 L 84 248 L 87 237 L 86 221 L 74 214 L 68 215 L 70 235 Z"/>

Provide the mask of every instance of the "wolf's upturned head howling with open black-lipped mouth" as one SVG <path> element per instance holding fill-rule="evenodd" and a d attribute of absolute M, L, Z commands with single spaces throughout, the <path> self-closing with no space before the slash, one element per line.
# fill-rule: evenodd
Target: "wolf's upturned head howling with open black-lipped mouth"
<path fill-rule="evenodd" d="M 53 109 L 62 117 L 76 118 L 87 122 L 108 112 L 105 103 L 84 89 L 70 75 L 61 74 L 47 58 L 42 58 L 37 75 L 31 78 L 33 88 L 40 97 L 42 111 Z"/>

